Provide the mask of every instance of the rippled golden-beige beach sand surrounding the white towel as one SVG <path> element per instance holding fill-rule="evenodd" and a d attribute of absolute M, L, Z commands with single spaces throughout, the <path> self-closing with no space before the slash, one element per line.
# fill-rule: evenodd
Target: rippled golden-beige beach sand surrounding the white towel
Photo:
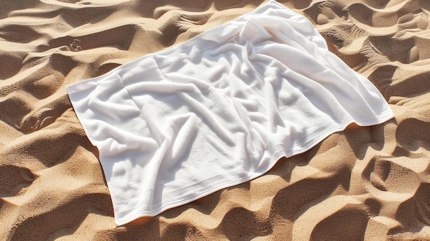
<path fill-rule="evenodd" d="M 115 227 L 65 86 L 260 3 L 1 1 L 0 240 L 430 240 L 427 0 L 284 2 L 378 87 L 395 119 L 351 125 L 258 179 Z"/>

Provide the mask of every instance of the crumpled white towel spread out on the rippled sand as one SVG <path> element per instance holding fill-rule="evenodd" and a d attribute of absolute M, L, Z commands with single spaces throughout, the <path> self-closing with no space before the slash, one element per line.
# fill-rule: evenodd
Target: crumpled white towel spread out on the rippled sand
<path fill-rule="evenodd" d="M 100 151 L 117 225 L 256 178 L 352 122 L 393 116 L 304 16 L 275 1 L 67 90 Z"/>

